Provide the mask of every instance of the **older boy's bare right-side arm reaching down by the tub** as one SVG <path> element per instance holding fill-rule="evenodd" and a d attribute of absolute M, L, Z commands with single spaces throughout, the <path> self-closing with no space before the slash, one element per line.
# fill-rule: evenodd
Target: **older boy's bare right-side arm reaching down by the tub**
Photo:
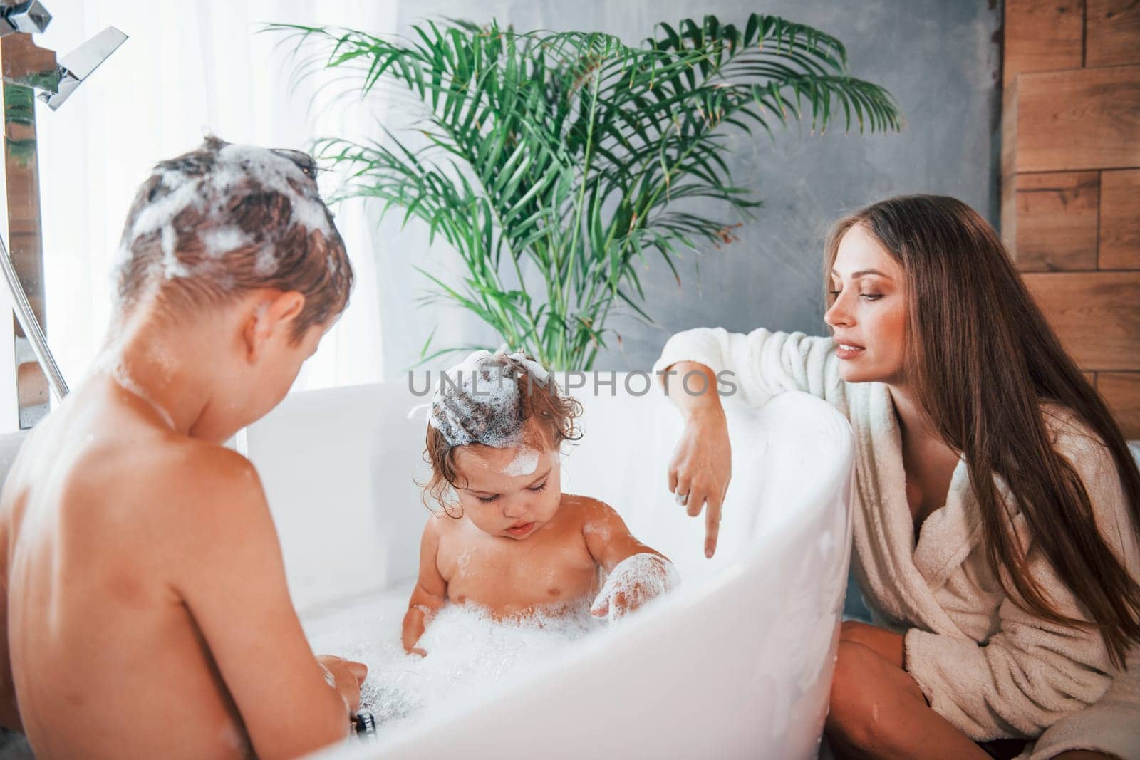
<path fill-rule="evenodd" d="M 202 447 L 171 471 L 173 590 L 197 623 L 255 754 L 292 758 L 343 739 L 367 669 L 312 655 L 253 465 Z"/>

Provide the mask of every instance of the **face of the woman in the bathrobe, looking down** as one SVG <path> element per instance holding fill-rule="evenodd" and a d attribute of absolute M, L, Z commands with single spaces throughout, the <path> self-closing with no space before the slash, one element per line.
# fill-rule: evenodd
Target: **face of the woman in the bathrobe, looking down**
<path fill-rule="evenodd" d="M 831 269 L 836 301 L 823 319 L 834 330 L 839 375 L 848 383 L 903 383 L 905 283 L 903 268 L 863 224 L 844 234 Z"/>

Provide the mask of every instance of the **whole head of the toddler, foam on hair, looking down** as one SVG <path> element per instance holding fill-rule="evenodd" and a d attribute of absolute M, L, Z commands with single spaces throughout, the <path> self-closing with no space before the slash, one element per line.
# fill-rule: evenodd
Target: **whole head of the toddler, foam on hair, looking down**
<path fill-rule="evenodd" d="M 432 399 L 425 489 L 453 517 L 524 540 L 561 501 L 562 441 L 579 438 L 581 406 L 524 354 L 477 351 L 448 370 Z M 445 495 L 455 490 L 459 512 Z"/>

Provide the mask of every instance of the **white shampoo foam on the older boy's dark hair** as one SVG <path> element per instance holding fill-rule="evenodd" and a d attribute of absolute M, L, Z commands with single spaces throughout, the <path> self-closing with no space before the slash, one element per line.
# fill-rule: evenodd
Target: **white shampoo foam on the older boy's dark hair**
<path fill-rule="evenodd" d="M 270 276 L 276 271 L 274 240 L 264 240 L 260 232 L 246 232 L 226 223 L 237 194 L 280 194 L 290 203 L 291 224 L 304 227 L 310 235 L 320 232 L 326 238 L 334 235 L 327 210 L 312 180 L 292 161 L 264 148 L 226 145 L 218 150 L 215 163 L 207 173 L 168 169 L 160 178 L 166 195 L 139 211 L 125 250 L 120 252 L 120 260 L 129 259 L 131 246 L 140 237 L 158 232 L 163 252 L 162 271 L 166 279 L 196 273 L 193 268 L 179 262 L 177 256 L 177 220 L 189 210 L 205 216 L 206 224 L 211 221 L 218 223 L 217 228 L 199 234 L 209 259 L 221 259 L 230 251 L 263 243 L 255 271 L 262 276 Z M 329 273 L 335 276 L 337 262 L 329 256 L 326 263 Z"/>

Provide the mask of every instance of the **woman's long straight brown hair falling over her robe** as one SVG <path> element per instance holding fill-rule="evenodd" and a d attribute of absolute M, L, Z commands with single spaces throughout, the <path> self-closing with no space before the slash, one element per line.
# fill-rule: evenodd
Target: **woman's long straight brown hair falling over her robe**
<path fill-rule="evenodd" d="M 839 240 L 855 224 L 906 272 L 905 371 L 931 430 L 964 455 L 992 571 L 1026 611 L 1064 626 L 1089 626 L 1060 614 L 1026 572 L 996 475 L 1032 540 L 1088 608 L 1113 663 L 1123 667 L 1125 651 L 1140 638 L 1140 586 L 1097 530 L 1084 483 L 1053 449 L 1040 409 L 1042 402 L 1066 407 L 1100 436 L 1116 463 L 1133 529 L 1140 530 L 1140 472 L 1108 407 L 1065 353 L 997 235 L 976 211 L 945 196 L 911 195 L 845 216 L 828 239 L 825 286 Z"/>

